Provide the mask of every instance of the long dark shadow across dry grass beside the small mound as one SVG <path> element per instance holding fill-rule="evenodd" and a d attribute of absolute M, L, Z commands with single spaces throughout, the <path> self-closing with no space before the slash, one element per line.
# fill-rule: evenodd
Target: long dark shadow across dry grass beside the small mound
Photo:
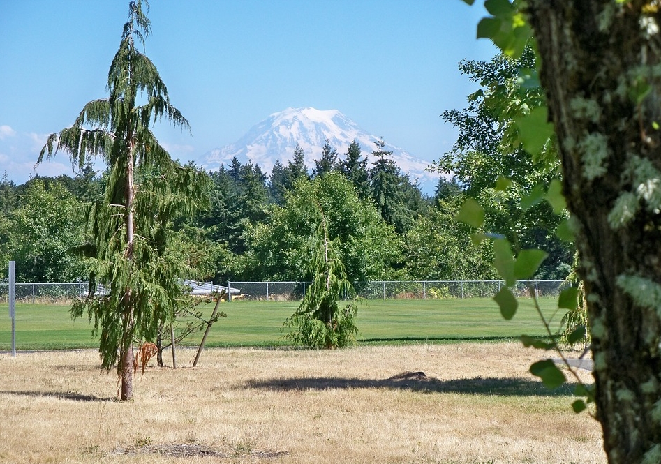
<path fill-rule="evenodd" d="M 458 393 L 494 396 L 573 396 L 574 384 L 549 390 L 541 382 L 523 378 L 473 377 L 438 380 L 422 372 L 402 373 L 383 380 L 341 377 L 294 377 L 248 380 L 242 388 L 276 391 L 387 388 L 422 393 Z"/>

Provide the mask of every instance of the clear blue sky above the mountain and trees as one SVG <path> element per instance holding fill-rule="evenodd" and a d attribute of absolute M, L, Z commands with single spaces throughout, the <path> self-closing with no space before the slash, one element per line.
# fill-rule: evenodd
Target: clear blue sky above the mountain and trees
<path fill-rule="evenodd" d="M 444 110 L 475 91 L 461 59 L 489 60 L 476 2 L 461 0 L 151 0 L 147 56 L 192 135 L 162 122 L 182 161 L 235 142 L 287 107 L 336 109 L 429 160 L 456 130 Z M 34 170 L 49 133 L 107 96 L 128 0 L 0 0 L 0 174 L 73 174 L 59 153 Z"/>

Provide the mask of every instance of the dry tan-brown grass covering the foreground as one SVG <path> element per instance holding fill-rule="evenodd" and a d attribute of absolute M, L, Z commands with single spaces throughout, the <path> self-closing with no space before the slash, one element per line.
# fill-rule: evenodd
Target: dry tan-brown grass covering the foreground
<path fill-rule="evenodd" d="M 96 352 L 2 354 L 0 462 L 604 463 L 597 422 L 530 383 L 539 357 L 514 343 L 216 349 L 194 369 L 152 361 L 121 403 Z M 390 379 L 408 371 L 425 375 Z"/>

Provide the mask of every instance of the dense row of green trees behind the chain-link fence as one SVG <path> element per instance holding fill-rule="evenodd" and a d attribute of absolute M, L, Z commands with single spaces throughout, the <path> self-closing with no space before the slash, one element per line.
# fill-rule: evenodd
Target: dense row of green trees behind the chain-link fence
<path fill-rule="evenodd" d="M 343 156 L 328 144 L 323 153 L 309 170 L 297 148 L 269 177 L 259 165 L 236 158 L 214 172 L 198 170 L 207 178 L 207 206 L 188 218 L 170 218 L 172 253 L 195 270 L 186 277 L 216 283 L 313 280 L 307 266 L 316 230 L 309 218 L 311 199 L 326 211 L 329 237 L 352 283 L 495 278 L 489 248 L 474 245 L 468 227 L 453 219 L 466 195 L 491 198 L 493 232 L 508 233 L 516 223 L 533 244 L 554 237 L 557 224 L 544 220 L 551 215 L 522 214 L 493 188 L 480 186 L 491 173 L 466 173 L 445 158 L 446 169 L 456 170 L 459 181 L 441 178 L 436 195 L 425 197 L 383 144 L 373 151 L 371 165 L 356 142 Z M 0 229 L 0 256 L 17 261 L 19 281 L 87 280 L 82 218 L 107 181 L 107 173 L 95 175 L 89 166 L 75 177 L 34 177 L 18 186 L 6 177 L 0 181 L 0 223 L 6 225 Z M 554 246 L 557 252 L 540 269 L 540 278 L 564 278 L 568 272 L 570 248 Z"/>

